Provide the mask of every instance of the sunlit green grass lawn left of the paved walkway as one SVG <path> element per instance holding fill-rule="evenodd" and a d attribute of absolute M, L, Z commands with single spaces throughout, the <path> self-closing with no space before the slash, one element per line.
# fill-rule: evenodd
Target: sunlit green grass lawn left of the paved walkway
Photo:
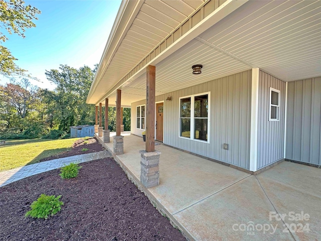
<path fill-rule="evenodd" d="M 0 172 L 37 163 L 71 149 L 78 138 L 63 140 L 12 140 L 0 146 Z"/>

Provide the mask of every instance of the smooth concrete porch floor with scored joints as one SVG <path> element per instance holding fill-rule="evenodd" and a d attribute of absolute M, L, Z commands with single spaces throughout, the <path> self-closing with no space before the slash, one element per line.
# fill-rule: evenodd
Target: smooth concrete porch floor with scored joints
<path fill-rule="evenodd" d="M 111 152 L 114 135 L 105 145 Z M 321 240 L 321 169 L 282 162 L 254 176 L 157 145 L 160 185 L 146 189 L 138 153 L 145 143 L 129 132 L 122 136 L 124 154 L 114 158 L 189 239 Z"/>

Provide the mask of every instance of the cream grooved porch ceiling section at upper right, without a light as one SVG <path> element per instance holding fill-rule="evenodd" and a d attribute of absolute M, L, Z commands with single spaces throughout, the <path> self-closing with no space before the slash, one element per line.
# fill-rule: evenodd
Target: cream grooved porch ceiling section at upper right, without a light
<path fill-rule="evenodd" d="M 320 1 L 249 1 L 199 37 L 284 81 L 321 75 Z"/>

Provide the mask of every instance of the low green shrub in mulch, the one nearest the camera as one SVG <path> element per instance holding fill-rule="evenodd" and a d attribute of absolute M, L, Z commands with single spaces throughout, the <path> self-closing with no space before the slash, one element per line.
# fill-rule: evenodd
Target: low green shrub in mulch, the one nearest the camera
<path fill-rule="evenodd" d="M 31 210 L 26 213 L 26 217 L 48 218 L 49 215 L 53 216 L 60 211 L 61 205 L 64 203 L 59 201 L 61 195 L 55 197 L 55 195 L 48 196 L 41 194 L 39 198 L 31 204 Z"/>

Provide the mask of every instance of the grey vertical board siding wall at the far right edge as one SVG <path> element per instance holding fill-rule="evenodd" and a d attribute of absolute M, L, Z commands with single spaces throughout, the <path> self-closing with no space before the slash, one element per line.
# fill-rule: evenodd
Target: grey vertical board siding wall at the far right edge
<path fill-rule="evenodd" d="M 321 165 L 321 77 L 288 83 L 286 155 Z"/>

